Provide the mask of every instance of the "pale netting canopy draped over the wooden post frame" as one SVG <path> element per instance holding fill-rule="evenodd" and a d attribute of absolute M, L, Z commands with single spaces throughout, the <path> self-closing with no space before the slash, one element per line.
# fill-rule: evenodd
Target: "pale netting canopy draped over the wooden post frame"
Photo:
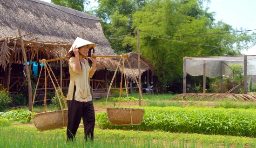
<path fill-rule="evenodd" d="M 189 57 L 183 59 L 183 71 L 192 76 L 203 75 L 209 78 L 218 76 L 230 77 L 230 66 L 239 64 L 244 67 L 247 59 L 247 75 L 256 75 L 256 55 L 218 56 L 218 57 Z M 204 68 L 205 63 L 205 68 Z"/>

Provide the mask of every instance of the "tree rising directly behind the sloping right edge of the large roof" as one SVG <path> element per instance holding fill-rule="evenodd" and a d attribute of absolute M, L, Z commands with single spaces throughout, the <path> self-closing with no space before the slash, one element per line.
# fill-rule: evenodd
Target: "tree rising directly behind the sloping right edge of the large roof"
<path fill-rule="evenodd" d="M 126 34 L 135 36 L 132 14 L 142 9 L 145 0 L 98 0 L 98 3 L 99 6 L 88 13 L 101 18 L 104 34 L 114 52 L 122 54 L 133 51 L 133 47 L 123 45 L 122 40 L 117 38 L 124 38 Z"/>

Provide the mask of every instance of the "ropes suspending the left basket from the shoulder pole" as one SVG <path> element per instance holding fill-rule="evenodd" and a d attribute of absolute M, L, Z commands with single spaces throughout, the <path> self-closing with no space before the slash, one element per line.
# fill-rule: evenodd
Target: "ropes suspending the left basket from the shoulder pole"
<path fill-rule="evenodd" d="M 54 73 L 53 73 L 53 71 L 52 71 L 50 65 L 46 62 L 45 59 L 43 59 L 43 60 L 42 60 L 41 70 L 40 70 L 40 74 L 39 74 L 39 79 L 38 79 L 38 81 L 37 81 L 36 88 L 35 88 L 35 91 L 34 91 L 34 98 L 33 98 L 33 104 L 32 104 L 32 114 L 31 114 L 31 115 L 32 115 L 32 118 L 33 118 L 33 107 L 34 107 L 34 100 L 35 100 L 36 90 L 37 90 L 37 87 L 38 87 L 38 84 L 39 84 L 40 75 L 41 75 L 41 72 L 42 72 L 42 67 L 43 67 L 43 65 L 45 66 L 45 67 L 44 67 L 44 69 L 45 69 L 44 112 L 47 111 L 47 102 L 46 102 L 46 87 L 47 87 L 47 76 L 46 76 L 46 75 L 47 75 L 47 74 L 46 74 L 46 71 L 48 72 L 48 74 L 49 74 L 49 76 L 50 76 L 50 79 L 51 79 L 51 81 L 52 81 L 52 83 L 53 83 L 54 89 L 55 89 L 55 91 L 56 91 L 57 93 L 58 93 L 58 91 L 57 91 L 57 88 L 56 88 L 56 86 L 55 86 L 55 84 L 54 84 L 54 81 L 53 81 L 53 79 L 52 79 L 52 77 L 51 77 L 51 74 L 50 74 L 50 72 L 49 72 L 49 69 L 50 69 L 50 71 L 52 72 L 52 74 L 53 74 L 53 76 L 54 76 L 54 79 L 55 79 L 56 82 L 57 82 L 58 87 L 60 88 L 60 85 L 59 85 L 59 83 L 58 83 L 58 81 L 57 81 L 57 79 L 56 79 L 56 77 L 55 77 L 55 75 L 54 75 Z M 49 69 L 48 69 L 48 67 L 49 67 Z M 61 89 L 60 89 L 60 91 L 61 91 L 61 97 L 64 97 L 63 92 L 62 92 Z M 64 124 L 65 124 L 65 122 L 64 122 L 64 119 L 65 119 L 65 118 L 64 118 L 64 110 L 63 110 L 63 107 L 62 107 L 62 103 L 61 103 L 60 96 L 57 95 L 57 97 L 58 97 L 58 100 L 59 100 L 59 103 L 60 103 L 60 106 L 61 106 L 61 112 L 62 112 L 62 127 L 64 127 Z M 63 102 L 64 102 L 65 109 L 67 109 L 67 103 L 66 103 L 66 101 L 63 100 Z M 55 128 L 54 128 L 54 129 L 55 129 Z"/>

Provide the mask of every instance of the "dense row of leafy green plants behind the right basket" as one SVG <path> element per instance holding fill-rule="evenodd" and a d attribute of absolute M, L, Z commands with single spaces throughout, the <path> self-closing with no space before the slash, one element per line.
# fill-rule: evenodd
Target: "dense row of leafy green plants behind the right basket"
<path fill-rule="evenodd" d="M 96 114 L 99 128 L 163 130 L 212 135 L 256 136 L 256 110 L 235 108 L 144 107 L 139 126 L 110 126 L 107 114 Z"/>

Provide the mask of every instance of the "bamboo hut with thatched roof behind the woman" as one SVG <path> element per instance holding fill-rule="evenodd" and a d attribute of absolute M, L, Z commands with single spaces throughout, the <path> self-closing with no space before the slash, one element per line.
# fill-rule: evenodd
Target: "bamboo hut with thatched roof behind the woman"
<path fill-rule="evenodd" d="M 29 64 L 29 72 L 39 74 L 38 61 L 66 56 L 76 37 L 94 42 L 97 45 L 96 55 L 115 55 L 103 34 L 100 19 L 93 15 L 40 0 L 0 0 L 0 84 L 11 92 L 17 92 L 26 81 L 25 59 Z M 22 54 L 22 44 L 26 56 Z M 130 53 L 128 59 L 129 62 L 137 62 L 134 53 Z M 153 66 L 146 59 L 142 59 L 144 66 L 141 66 L 141 71 L 150 70 L 153 74 Z M 117 61 L 118 59 L 114 58 L 98 60 L 96 67 L 99 68 L 98 71 L 104 69 L 105 84 L 108 69 L 115 70 Z M 69 84 L 67 62 L 67 60 L 49 62 L 64 88 Z M 34 65 L 38 65 L 35 71 Z M 126 68 L 129 69 L 128 66 Z M 138 76 L 136 67 L 133 68 L 135 75 Z M 125 74 L 132 77 L 129 70 L 126 70 Z M 90 80 L 91 84 L 102 82 L 102 79 L 99 81 L 97 78 L 102 77 L 102 74 L 94 75 Z M 32 83 L 41 79 L 40 87 L 45 85 L 51 87 L 50 82 L 45 84 L 45 79 L 49 78 L 44 75 L 42 78 L 35 76 L 31 79 Z M 96 89 L 96 85 L 94 88 Z M 106 85 L 103 88 L 106 88 Z"/>

